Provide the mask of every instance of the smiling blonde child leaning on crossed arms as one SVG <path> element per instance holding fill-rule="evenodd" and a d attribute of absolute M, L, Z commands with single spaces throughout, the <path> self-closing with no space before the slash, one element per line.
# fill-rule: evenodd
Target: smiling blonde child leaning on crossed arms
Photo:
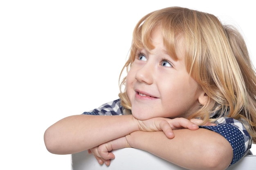
<path fill-rule="evenodd" d="M 109 165 L 111 150 L 132 147 L 188 169 L 226 169 L 256 142 L 255 70 L 240 33 L 214 15 L 145 15 L 125 70 L 120 99 L 45 131 L 49 152 L 88 150 Z"/>

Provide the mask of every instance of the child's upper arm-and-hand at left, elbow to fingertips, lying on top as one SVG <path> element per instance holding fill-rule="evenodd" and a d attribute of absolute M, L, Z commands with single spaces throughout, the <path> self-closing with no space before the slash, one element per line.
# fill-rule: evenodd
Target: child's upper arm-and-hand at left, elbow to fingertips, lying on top
<path fill-rule="evenodd" d="M 103 143 L 124 137 L 135 131 L 164 131 L 172 138 L 174 128 L 198 129 L 198 126 L 184 118 L 152 118 L 144 121 L 132 115 L 95 116 L 74 115 L 57 121 L 44 135 L 45 146 L 54 154 L 72 154 L 88 150 Z"/>

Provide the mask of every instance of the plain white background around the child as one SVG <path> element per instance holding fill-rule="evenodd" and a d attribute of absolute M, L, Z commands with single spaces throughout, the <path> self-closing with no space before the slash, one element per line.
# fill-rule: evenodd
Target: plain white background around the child
<path fill-rule="evenodd" d="M 70 170 L 70 155 L 45 149 L 46 128 L 117 99 L 135 24 L 169 6 L 235 24 L 255 60 L 250 0 L 0 1 L 0 169 Z"/>

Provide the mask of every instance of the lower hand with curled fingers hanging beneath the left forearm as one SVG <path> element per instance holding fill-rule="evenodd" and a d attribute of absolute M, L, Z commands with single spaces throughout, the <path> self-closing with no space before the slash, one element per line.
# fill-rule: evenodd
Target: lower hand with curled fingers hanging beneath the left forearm
<path fill-rule="evenodd" d="M 126 137 L 120 137 L 112 141 L 108 141 L 105 144 L 91 148 L 88 150 L 88 153 L 93 153 L 94 157 L 97 159 L 98 163 L 102 165 L 105 163 L 106 166 L 110 165 L 110 159 L 115 159 L 115 155 L 111 152 L 115 149 L 128 148 Z"/>

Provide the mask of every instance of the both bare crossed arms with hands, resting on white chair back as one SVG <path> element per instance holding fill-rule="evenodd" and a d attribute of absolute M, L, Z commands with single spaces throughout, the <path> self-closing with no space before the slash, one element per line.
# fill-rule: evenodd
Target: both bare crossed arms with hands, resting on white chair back
<path fill-rule="evenodd" d="M 64 118 L 45 132 L 45 145 L 55 154 L 91 149 L 100 163 L 110 151 L 133 147 L 188 169 L 226 169 L 233 158 L 229 142 L 216 132 L 198 129 L 183 118 L 139 121 L 132 115 Z M 99 146 L 99 147 L 98 147 Z M 102 162 L 103 163 L 103 162 Z"/>

